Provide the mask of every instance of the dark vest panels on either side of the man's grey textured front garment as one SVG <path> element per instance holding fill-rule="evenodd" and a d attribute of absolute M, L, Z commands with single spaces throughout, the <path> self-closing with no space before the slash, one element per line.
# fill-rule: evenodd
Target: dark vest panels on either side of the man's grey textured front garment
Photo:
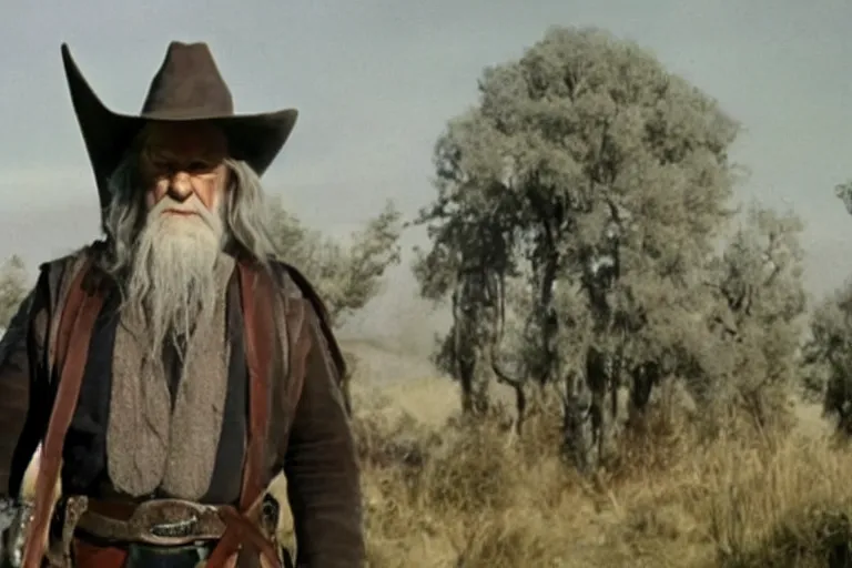
<path fill-rule="evenodd" d="M 95 498 L 116 496 L 106 469 L 106 430 L 110 420 L 113 347 L 119 324 L 118 306 L 119 293 L 113 291 L 108 294 L 92 333 L 80 398 L 62 452 L 62 487 L 65 494 Z M 236 271 L 229 281 L 226 333 L 231 342 L 231 358 L 224 416 L 213 477 L 201 499 L 201 503 L 211 505 L 235 504 L 242 484 L 248 374 Z M 174 396 L 176 376 L 170 377 L 170 381 Z M 158 491 L 139 499 L 151 497 L 171 496 Z"/>

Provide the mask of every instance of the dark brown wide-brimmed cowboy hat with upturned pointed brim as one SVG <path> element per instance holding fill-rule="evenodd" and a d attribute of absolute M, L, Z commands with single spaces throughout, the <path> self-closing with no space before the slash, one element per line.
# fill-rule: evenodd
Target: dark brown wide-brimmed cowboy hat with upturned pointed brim
<path fill-rule="evenodd" d="M 62 63 L 102 210 L 111 200 L 110 175 L 146 123 L 213 122 L 225 133 L 230 155 L 245 161 L 257 175 L 263 175 L 287 141 L 298 114 L 295 109 L 234 114 L 231 90 L 204 42 L 169 44 L 138 115 L 108 109 L 83 78 L 65 43 Z"/>

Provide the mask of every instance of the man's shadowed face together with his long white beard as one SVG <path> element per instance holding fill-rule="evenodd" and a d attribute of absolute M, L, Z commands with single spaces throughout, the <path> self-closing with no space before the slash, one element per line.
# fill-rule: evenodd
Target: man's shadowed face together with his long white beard
<path fill-rule="evenodd" d="M 151 124 L 142 140 L 139 169 L 148 214 L 134 242 L 128 298 L 146 306 L 158 353 L 166 332 L 187 333 L 215 301 L 227 144 L 205 123 Z"/>

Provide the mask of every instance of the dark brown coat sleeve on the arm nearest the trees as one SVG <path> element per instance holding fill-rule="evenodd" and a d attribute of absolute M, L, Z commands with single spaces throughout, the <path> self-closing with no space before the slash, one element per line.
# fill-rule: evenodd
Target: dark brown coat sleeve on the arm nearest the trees
<path fill-rule="evenodd" d="M 358 462 L 338 367 L 317 312 L 305 306 L 311 347 L 284 460 L 296 565 L 353 568 L 365 562 Z"/>

